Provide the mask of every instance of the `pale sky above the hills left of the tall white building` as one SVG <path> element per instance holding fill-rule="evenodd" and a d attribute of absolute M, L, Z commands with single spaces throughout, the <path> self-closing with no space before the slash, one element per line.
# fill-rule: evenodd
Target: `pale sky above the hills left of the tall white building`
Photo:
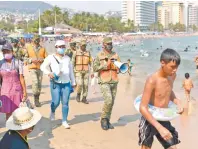
<path fill-rule="evenodd" d="M 121 1 L 45 1 L 61 8 L 71 8 L 80 11 L 96 12 L 104 14 L 105 12 L 121 11 Z"/>

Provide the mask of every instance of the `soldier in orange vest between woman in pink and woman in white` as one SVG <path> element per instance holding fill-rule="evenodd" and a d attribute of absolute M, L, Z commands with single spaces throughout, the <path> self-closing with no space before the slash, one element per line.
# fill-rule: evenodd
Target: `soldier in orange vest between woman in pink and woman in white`
<path fill-rule="evenodd" d="M 47 57 L 45 48 L 40 46 L 39 36 L 34 36 L 33 42 L 27 46 L 25 54 L 26 62 L 28 64 L 29 72 L 32 77 L 32 91 L 34 94 L 34 103 L 36 107 L 40 107 L 39 96 L 41 93 L 43 73 L 40 70 L 40 65 Z"/>

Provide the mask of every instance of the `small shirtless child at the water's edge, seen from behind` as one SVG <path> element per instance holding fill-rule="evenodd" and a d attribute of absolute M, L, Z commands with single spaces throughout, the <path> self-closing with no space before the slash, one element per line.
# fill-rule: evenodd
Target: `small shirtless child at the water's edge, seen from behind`
<path fill-rule="evenodd" d="M 192 80 L 190 79 L 189 73 L 185 73 L 185 80 L 183 81 L 183 88 L 185 89 L 186 99 L 190 101 L 190 91 L 193 88 Z"/>

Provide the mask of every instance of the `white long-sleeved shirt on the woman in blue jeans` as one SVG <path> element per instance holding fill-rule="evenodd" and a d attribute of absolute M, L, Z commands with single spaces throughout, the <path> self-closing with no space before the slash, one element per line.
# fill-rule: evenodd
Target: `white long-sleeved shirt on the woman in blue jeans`
<path fill-rule="evenodd" d="M 54 57 L 58 60 L 59 64 Z M 49 66 L 51 67 L 52 72 Z M 59 76 L 58 80 L 55 80 L 57 83 L 69 83 L 71 81 L 72 86 L 76 85 L 73 66 L 67 55 L 62 58 L 55 54 L 47 56 L 41 65 L 41 70 L 46 75 L 55 73 Z"/>

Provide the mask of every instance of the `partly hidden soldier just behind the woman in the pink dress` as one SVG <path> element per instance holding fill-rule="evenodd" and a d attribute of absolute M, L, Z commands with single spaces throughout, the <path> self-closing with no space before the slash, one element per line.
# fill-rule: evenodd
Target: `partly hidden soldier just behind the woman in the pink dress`
<path fill-rule="evenodd" d="M 19 45 L 19 41 L 17 39 L 14 39 L 12 41 L 12 43 L 13 43 L 13 54 L 14 54 L 14 57 L 16 59 L 19 59 L 19 60 L 23 61 L 24 60 L 24 53 L 23 53 L 23 49 Z"/>

